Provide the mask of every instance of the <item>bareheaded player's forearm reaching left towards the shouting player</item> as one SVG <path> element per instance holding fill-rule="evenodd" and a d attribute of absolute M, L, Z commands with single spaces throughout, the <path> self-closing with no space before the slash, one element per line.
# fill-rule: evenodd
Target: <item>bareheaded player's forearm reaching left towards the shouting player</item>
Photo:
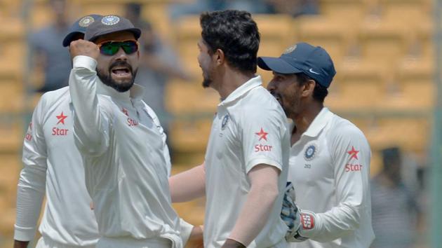
<path fill-rule="evenodd" d="M 206 194 L 204 165 L 196 166 L 169 178 L 172 202 L 187 202 Z"/>

